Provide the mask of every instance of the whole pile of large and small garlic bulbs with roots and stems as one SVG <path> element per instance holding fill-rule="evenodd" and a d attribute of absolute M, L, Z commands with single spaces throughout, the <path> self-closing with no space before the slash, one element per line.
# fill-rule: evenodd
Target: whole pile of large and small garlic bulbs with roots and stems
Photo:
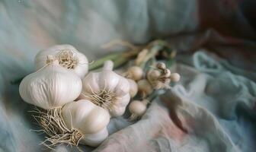
<path fill-rule="evenodd" d="M 122 116 L 131 98 L 130 120 L 141 117 L 158 89 L 168 88 L 171 81 L 180 79 L 164 63 L 158 63 L 147 73 L 143 71 L 165 47 L 169 46 L 155 41 L 142 50 L 133 47 L 131 53 L 109 55 L 90 67 L 98 68 L 106 59 L 123 64 L 137 55 L 135 65 L 123 76 L 113 71 L 112 61 L 104 62 L 102 71 L 88 73 L 88 59 L 70 45 L 53 46 L 37 53 L 37 71 L 21 81 L 19 92 L 25 102 L 40 107 L 34 110 L 34 118 L 42 128 L 40 131 L 48 136 L 43 144 L 50 148 L 63 143 L 98 146 L 108 136 L 110 118 Z"/>

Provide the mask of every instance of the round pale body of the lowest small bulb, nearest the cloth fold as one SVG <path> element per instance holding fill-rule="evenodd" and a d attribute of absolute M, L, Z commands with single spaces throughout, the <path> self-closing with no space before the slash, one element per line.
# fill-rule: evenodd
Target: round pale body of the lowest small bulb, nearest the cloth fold
<path fill-rule="evenodd" d="M 136 116 L 142 116 L 146 112 L 146 103 L 139 100 L 133 100 L 129 105 L 129 110 Z"/>

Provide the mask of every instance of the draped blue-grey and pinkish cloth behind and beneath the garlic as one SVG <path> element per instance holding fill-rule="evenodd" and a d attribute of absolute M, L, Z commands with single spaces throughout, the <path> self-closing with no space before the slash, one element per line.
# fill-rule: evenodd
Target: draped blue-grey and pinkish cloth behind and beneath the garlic
<path fill-rule="evenodd" d="M 34 71 L 34 56 L 40 49 L 69 43 L 93 60 L 114 51 L 101 49 L 110 40 L 140 44 L 159 38 L 168 38 L 178 50 L 172 70 L 181 73 L 181 82 L 154 100 L 139 122 L 128 122 L 126 116 L 111 119 L 110 136 L 101 146 L 80 148 L 255 151 L 256 44 L 255 24 L 248 20 L 248 12 L 253 12 L 247 9 L 250 4 L 249 0 L 2 0 L 0 151 L 50 151 L 40 145 L 43 135 L 33 131 L 38 126 L 28 111 L 34 106 L 21 100 L 18 85 L 10 84 Z M 65 145 L 56 150 L 78 151 Z"/>

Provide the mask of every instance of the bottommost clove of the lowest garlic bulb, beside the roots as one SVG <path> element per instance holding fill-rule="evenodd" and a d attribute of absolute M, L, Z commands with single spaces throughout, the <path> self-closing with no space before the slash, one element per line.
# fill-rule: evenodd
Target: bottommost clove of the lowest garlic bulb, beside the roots
<path fill-rule="evenodd" d="M 87 144 L 92 147 L 97 147 L 102 143 L 108 136 L 107 127 L 103 128 L 97 133 L 85 135 L 84 138 L 80 141 L 81 144 Z"/>

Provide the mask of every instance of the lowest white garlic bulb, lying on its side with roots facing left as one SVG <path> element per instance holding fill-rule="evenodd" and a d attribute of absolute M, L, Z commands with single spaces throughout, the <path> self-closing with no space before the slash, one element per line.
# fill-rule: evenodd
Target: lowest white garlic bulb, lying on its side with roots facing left
<path fill-rule="evenodd" d="M 108 136 L 109 112 L 89 100 L 78 100 L 63 106 L 62 119 L 68 128 L 82 134 L 80 144 L 98 146 Z"/>

